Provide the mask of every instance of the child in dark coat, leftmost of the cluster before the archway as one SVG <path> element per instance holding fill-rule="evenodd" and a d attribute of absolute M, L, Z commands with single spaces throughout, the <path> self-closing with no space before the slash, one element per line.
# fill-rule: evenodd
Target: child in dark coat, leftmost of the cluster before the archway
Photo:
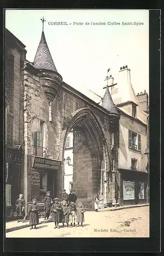
<path fill-rule="evenodd" d="M 59 222 L 61 222 L 61 210 L 62 206 L 59 202 L 59 198 L 54 198 L 51 206 L 51 216 L 52 216 L 52 221 L 54 221 L 54 228 L 60 228 L 59 227 Z"/>

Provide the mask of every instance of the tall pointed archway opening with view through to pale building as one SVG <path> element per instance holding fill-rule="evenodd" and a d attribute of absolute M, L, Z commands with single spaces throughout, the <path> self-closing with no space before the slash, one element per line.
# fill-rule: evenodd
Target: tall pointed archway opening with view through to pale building
<path fill-rule="evenodd" d="M 65 123 L 63 187 L 74 189 L 77 201 L 93 207 L 93 196 L 102 190 L 105 139 L 101 126 L 89 108 L 79 109 Z"/>

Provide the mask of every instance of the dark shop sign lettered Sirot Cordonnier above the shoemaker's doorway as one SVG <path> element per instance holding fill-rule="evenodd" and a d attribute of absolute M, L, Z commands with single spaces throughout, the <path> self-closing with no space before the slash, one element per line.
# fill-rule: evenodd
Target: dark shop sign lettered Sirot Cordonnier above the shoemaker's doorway
<path fill-rule="evenodd" d="M 44 169 L 59 169 L 61 161 L 33 156 L 33 167 L 44 168 Z"/>

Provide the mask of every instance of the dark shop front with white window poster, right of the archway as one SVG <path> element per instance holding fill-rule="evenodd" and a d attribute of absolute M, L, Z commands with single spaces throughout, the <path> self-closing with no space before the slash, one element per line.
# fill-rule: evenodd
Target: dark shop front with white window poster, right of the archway
<path fill-rule="evenodd" d="M 119 169 L 121 205 L 148 202 L 148 173 Z"/>

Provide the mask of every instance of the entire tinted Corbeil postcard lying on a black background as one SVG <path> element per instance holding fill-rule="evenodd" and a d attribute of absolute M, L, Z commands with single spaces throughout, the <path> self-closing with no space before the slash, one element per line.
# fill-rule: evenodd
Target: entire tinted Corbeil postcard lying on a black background
<path fill-rule="evenodd" d="M 149 11 L 5 12 L 6 238 L 149 238 Z"/>

